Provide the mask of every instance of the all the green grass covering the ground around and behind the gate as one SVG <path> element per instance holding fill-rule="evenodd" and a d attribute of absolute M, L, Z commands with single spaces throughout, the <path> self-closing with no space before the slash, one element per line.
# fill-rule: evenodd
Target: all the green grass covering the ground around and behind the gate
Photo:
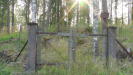
<path fill-rule="evenodd" d="M 85 27 L 82 28 L 84 32 Z M 78 30 L 81 32 L 80 30 Z M 124 32 L 125 31 L 125 32 Z M 128 43 L 132 43 L 131 34 L 133 31 L 132 27 L 123 28 L 123 31 L 119 32 L 118 36 L 128 37 L 128 40 L 124 41 L 124 45 L 128 46 Z M 52 32 L 52 31 L 51 31 Z M 82 32 L 81 32 L 82 33 Z M 26 33 L 21 34 L 21 41 L 18 41 L 19 33 L 0 34 L 0 50 L 10 50 L 11 52 L 17 52 L 24 44 L 27 39 Z M 105 59 L 97 57 L 94 60 L 92 56 L 92 37 L 88 38 L 78 38 L 77 42 L 78 47 L 76 47 L 76 63 L 72 64 L 71 68 L 68 66 L 68 39 L 63 37 L 46 37 L 51 40 L 47 43 L 47 48 L 44 48 L 44 41 L 42 37 L 41 47 L 42 50 L 42 61 L 48 62 L 64 62 L 67 65 L 61 66 L 43 66 L 39 71 L 38 75 L 133 75 L 133 64 L 129 60 L 124 60 L 122 63 L 116 63 L 115 60 L 110 61 L 110 68 L 107 70 L 105 66 Z M 10 39 L 16 39 L 8 43 L 3 43 Z M 19 47 L 20 43 L 20 47 Z M 101 45 L 99 45 L 101 46 Z M 14 52 L 13 52 L 14 53 Z M 13 75 L 14 72 L 24 72 L 23 65 L 25 62 L 22 62 L 25 57 L 23 54 L 19 59 L 19 64 L 0 64 L 2 70 L 0 70 L 0 75 Z"/>

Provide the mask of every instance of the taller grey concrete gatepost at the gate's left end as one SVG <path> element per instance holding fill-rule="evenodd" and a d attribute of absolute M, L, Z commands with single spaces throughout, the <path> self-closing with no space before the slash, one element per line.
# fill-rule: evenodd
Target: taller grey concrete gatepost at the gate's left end
<path fill-rule="evenodd" d="M 26 71 L 36 71 L 36 60 L 37 60 L 37 23 L 28 24 L 28 53 Z"/>

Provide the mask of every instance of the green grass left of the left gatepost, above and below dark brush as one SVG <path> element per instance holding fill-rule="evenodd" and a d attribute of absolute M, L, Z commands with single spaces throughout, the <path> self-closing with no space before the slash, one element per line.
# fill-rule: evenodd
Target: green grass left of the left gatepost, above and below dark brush
<path fill-rule="evenodd" d="M 21 35 L 19 33 L 11 34 L 0 34 L 0 51 L 7 51 L 8 55 L 16 55 L 20 49 L 23 47 L 25 41 L 27 40 L 26 33 L 23 32 Z M 20 40 L 19 40 L 19 36 Z M 0 58 L 0 61 L 4 61 Z M 14 63 L 6 64 L 0 62 L 0 75 L 11 75 L 13 72 L 22 71 L 22 65 L 15 65 Z M 14 64 L 14 65 L 13 65 Z"/>

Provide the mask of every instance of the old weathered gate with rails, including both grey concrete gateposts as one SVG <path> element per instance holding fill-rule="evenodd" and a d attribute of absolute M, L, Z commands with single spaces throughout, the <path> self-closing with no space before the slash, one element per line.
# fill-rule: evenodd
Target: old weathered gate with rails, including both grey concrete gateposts
<path fill-rule="evenodd" d="M 36 23 L 29 23 L 26 71 L 36 71 L 43 65 L 61 65 L 70 69 L 73 63 L 85 66 L 85 71 L 87 71 L 90 56 L 97 57 L 93 51 L 94 37 L 98 39 L 98 56 L 106 55 L 107 61 L 109 54 L 115 57 L 116 27 L 108 27 L 107 34 L 78 33 L 78 30 L 74 29 L 62 32 L 42 32 L 39 31 Z"/>

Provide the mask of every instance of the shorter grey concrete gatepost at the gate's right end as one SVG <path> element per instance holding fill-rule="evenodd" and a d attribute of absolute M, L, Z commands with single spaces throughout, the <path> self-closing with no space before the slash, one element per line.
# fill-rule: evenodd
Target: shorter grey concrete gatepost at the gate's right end
<path fill-rule="evenodd" d="M 117 43 L 115 41 L 116 39 L 116 27 L 109 27 L 108 28 L 108 42 L 109 42 L 109 55 L 112 56 L 113 58 L 116 58 L 116 54 L 117 54 Z"/>

